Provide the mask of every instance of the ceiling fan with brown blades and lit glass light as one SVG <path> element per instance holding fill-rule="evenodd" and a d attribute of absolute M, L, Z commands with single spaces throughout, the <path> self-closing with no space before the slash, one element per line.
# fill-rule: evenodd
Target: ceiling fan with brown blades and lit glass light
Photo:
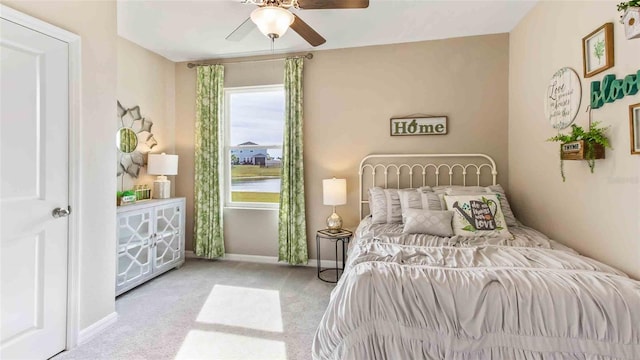
<path fill-rule="evenodd" d="M 327 40 L 311 26 L 302 21 L 289 9 L 329 10 L 329 9 L 364 9 L 369 7 L 369 0 L 244 0 L 244 3 L 258 5 L 251 12 L 251 17 L 227 35 L 231 41 L 242 40 L 258 26 L 260 32 L 271 41 L 281 37 L 290 27 L 312 46 L 324 44 Z M 250 21 L 251 20 L 251 21 Z"/>

